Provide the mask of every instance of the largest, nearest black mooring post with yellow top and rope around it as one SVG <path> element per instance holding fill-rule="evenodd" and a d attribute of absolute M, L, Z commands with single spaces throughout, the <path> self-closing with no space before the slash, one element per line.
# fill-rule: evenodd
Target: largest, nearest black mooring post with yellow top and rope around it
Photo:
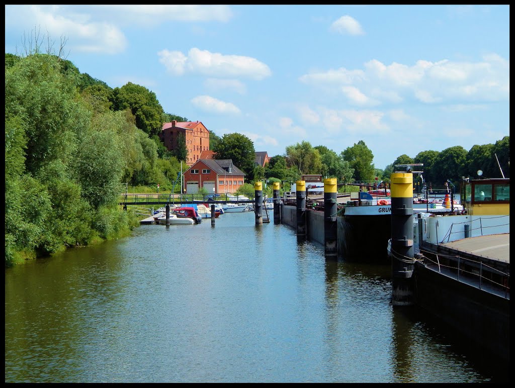
<path fill-rule="evenodd" d="M 413 173 L 393 172 L 391 181 L 392 305 L 415 304 Z"/>

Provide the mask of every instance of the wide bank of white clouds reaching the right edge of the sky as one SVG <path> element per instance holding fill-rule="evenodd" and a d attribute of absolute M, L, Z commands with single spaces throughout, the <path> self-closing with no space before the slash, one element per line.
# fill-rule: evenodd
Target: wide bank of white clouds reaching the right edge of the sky
<path fill-rule="evenodd" d="M 479 62 L 447 59 L 414 65 L 392 62 L 385 65 L 373 59 L 362 69 L 318 70 L 299 77 L 324 93 L 342 91 L 350 103 L 477 103 L 509 101 L 509 60 L 496 54 Z"/>

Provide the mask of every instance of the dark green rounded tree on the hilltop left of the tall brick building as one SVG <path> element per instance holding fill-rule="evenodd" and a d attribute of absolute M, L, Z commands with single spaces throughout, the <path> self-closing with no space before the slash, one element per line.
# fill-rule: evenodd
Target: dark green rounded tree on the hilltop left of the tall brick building
<path fill-rule="evenodd" d="M 148 135 L 157 135 L 163 128 L 164 111 L 156 94 L 146 87 L 128 82 L 113 89 L 111 97 L 113 109 L 130 109 L 136 118 L 136 126 Z"/>

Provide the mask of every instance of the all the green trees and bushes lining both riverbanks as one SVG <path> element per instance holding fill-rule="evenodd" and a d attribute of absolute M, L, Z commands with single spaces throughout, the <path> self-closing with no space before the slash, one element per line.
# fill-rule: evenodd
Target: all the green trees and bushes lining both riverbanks
<path fill-rule="evenodd" d="M 6 266 L 129 234 L 138 217 L 122 211 L 119 195 L 179 193 L 187 156 L 184 142 L 170 151 L 158 133 L 164 122 L 188 119 L 164 112 L 155 93 L 131 82 L 113 89 L 63 59 L 63 47 L 59 55 L 42 54 L 33 43 L 25 56 L 5 55 Z M 255 181 L 267 183 L 270 197 L 273 182 L 289 191 L 302 174 L 336 178 L 347 187 L 388 182 L 401 163 L 423 163 L 425 180 L 439 184 L 457 183 L 477 169 L 495 177 L 494 154 L 509 177 L 509 136 L 469 151 L 455 146 L 401 155 L 384 170 L 374 167 L 363 140 L 339 154 L 308 142 L 286 146 L 265 167 L 254 166 L 254 146 L 245 135 L 210 131 L 210 148 L 246 173 L 238 193 L 251 196 Z"/>

